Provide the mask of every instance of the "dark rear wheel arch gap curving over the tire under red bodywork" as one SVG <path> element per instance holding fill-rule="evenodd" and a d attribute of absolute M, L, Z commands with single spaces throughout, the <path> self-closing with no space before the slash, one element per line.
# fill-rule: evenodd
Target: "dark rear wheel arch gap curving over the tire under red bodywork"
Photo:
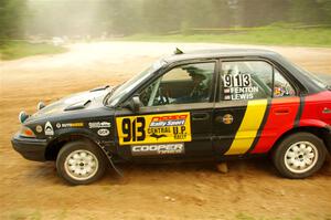
<path fill-rule="evenodd" d="M 293 127 L 286 133 L 284 133 L 274 144 L 271 147 L 270 153 L 273 153 L 279 143 L 281 143 L 286 137 L 295 134 L 295 133 L 300 133 L 300 132 L 306 132 L 316 135 L 317 137 L 321 138 L 329 150 L 329 154 L 331 154 L 331 135 L 330 135 L 330 128 L 328 127 L 317 127 L 317 126 L 300 126 L 300 127 Z"/>

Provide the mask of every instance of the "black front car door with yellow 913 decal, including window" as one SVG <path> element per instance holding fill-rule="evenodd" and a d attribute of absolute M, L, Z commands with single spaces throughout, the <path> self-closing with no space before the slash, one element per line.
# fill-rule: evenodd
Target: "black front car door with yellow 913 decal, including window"
<path fill-rule="evenodd" d="M 119 155 L 132 160 L 211 157 L 216 64 L 182 63 L 142 85 L 136 93 L 139 112 L 116 112 Z"/>

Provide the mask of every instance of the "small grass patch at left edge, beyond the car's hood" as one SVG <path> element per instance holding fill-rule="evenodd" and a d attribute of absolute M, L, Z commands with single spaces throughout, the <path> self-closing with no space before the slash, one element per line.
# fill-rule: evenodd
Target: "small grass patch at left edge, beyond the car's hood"
<path fill-rule="evenodd" d="M 0 60 L 15 60 L 31 55 L 56 54 L 63 52 L 66 52 L 65 48 L 46 43 L 19 41 L 0 44 Z"/>

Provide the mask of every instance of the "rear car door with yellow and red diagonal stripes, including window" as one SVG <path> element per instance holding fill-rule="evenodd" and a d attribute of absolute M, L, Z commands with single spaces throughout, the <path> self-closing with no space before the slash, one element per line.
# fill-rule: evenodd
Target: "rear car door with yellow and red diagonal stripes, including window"
<path fill-rule="evenodd" d="M 299 98 L 271 63 L 223 60 L 218 86 L 213 118 L 216 155 L 265 153 L 279 133 L 293 126 Z"/>

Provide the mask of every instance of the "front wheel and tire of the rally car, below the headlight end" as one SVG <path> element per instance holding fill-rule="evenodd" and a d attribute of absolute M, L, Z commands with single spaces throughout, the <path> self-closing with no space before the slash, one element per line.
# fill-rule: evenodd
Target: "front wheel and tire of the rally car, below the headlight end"
<path fill-rule="evenodd" d="M 56 169 L 70 185 L 88 185 L 105 174 L 106 156 L 90 142 L 72 142 L 61 148 Z"/>

